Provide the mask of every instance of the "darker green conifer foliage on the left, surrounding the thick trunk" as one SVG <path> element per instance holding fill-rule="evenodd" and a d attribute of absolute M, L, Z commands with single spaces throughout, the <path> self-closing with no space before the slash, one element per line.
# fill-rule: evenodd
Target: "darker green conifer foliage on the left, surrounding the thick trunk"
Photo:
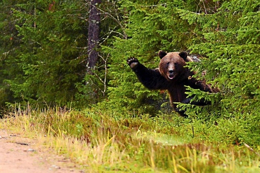
<path fill-rule="evenodd" d="M 1 104 L 30 101 L 43 106 L 57 103 L 81 108 L 107 97 L 110 60 L 105 51 L 98 49 L 93 75 L 86 75 L 88 3 L 1 3 L 0 72 L 5 77 L 0 79 L 0 85 L 3 98 L 10 98 Z M 99 42 L 109 47 L 113 36 L 126 37 L 123 11 L 118 10 L 114 1 L 102 3 L 98 8 L 102 17 Z"/>

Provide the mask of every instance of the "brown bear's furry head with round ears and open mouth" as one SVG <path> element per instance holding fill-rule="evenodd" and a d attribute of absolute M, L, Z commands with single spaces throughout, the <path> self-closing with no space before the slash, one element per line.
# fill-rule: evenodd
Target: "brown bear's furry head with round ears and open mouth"
<path fill-rule="evenodd" d="M 178 78 L 178 75 L 183 75 L 187 72 L 186 62 L 191 62 L 192 59 L 187 52 L 169 52 L 159 51 L 161 58 L 159 64 L 160 73 L 169 81 Z"/>

